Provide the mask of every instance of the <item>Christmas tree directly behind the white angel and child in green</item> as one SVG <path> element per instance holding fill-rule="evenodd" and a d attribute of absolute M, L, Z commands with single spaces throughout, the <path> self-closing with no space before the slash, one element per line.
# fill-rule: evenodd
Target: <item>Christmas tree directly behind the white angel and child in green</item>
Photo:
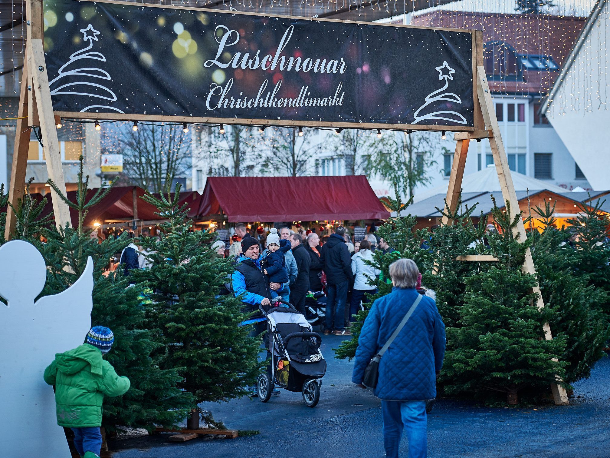
<path fill-rule="evenodd" d="M 43 294 L 56 294 L 72 285 L 80 277 L 88 256 L 94 263 L 92 325 L 104 325 L 113 330 L 115 343 L 105 358 L 117 373 L 129 377 L 131 388 L 123 396 L 104 399 L 102 426 L 109 432 L 120 426 L 145 427 L 152 431 L 156 425 L 172 427 L 179 424 L 192 405 L 189 393 L 176 385 L 182 380 L 174 369 L 160 368 L 165 359 L 165 346 L 159 329 L 148 329 L 145 305 L 141 296 L 145 285 L 129 285 L 123 271 L 118 269 L 103 274 L 104 267 L 114 253 L 121 252 L 129 243 L 124 236 L 110 236 L 99 243 L 91 238 L 91 230 L 83 226 L 87 211 L 99 203 L 108 189 L 87 196 L 88 176 L 81 171 L 76 202 L 70 202 L 52 181 L 62 200 L 76 210 L 77 227 L 43 228 L 48 242 L 43 245 L 43 256 L 48 265 L 46 288 Z"/>

